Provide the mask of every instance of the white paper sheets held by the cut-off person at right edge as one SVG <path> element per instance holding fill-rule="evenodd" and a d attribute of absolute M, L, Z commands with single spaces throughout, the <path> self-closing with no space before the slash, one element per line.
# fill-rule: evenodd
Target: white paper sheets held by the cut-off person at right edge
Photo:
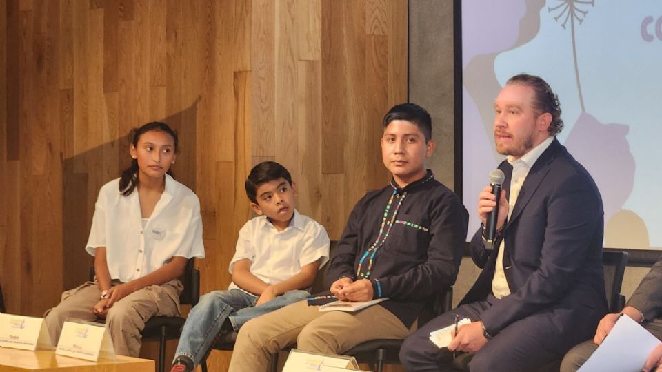
<path fill-rule="evenodd" d="M 591 358 L 578 372 L 641 371 L 661 342 L 629 316 L 621 316 Z"/>

